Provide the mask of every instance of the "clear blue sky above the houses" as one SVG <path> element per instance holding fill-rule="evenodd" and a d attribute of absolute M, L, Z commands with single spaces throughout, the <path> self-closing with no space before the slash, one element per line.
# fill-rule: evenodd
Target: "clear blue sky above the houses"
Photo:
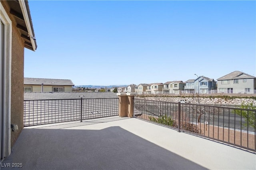
<path fill-rule="evenodd" d="M 256 1 L 29 1 L 24 77 L 120 85 L 256 76 Z"/>

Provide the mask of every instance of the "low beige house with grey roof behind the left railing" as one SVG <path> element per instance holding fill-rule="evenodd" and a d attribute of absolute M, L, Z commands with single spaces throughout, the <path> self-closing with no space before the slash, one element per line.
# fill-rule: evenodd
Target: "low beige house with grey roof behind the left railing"
<path fill-rule="evenodd" d="M 24 78 L 24 92 L 72 92 L 71 80 Z"/>

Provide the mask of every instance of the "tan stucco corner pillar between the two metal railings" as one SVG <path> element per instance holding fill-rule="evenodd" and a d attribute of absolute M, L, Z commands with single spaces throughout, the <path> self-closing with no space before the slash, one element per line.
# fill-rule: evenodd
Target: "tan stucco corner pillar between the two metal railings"
<path fill-rule="evenodd" d="M 118 93 L 118 115 L 133 117 L 135 93 Z"/>

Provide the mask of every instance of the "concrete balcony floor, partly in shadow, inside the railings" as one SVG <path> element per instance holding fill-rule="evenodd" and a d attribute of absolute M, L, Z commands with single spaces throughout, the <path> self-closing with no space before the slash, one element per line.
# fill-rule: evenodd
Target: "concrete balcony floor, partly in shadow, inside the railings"
<path fill-rule="evenodd" d="M 1 163 L 24 170 L 256 169 L 256 154 L 137 118 L 26 127 Z"/>

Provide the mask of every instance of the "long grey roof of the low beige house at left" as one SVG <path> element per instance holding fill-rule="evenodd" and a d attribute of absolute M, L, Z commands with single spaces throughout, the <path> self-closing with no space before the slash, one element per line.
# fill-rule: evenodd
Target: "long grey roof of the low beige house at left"
<path fill-rule="evenodd" d="M 71 80 L 50 79 L 50 78 L 24 78 L 25 85 L 52 85 L 52 86 L 74 86 Z"/>

